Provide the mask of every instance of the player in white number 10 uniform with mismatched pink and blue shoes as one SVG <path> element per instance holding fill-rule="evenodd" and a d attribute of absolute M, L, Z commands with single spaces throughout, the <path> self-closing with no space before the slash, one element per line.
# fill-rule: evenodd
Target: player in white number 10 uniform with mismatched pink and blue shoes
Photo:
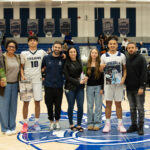
<path fill-rule="evenodd" d="M 41 63 L 43 57 L 47 53 L 42 49 L 37 49 L 38 38 L 35 35 L 28 37 L 29 49 L 21 53 L 21 79 L 31 80 L 33 87 L 33 97 L 35 100 L 35 124 L 34 129 L 40 131 L 38 120 L 40 116 L 40 101 L 42 96 L 42 75 L 41 75 Z M 24 101 L 23 104 L 23 119 L 24 124 L 21 132 L 26 133 L 28 131 L 28 106 L 31 99 Z"/>

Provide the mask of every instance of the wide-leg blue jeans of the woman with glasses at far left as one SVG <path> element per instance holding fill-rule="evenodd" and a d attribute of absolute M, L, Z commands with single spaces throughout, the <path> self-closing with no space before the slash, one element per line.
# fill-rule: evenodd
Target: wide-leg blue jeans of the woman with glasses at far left
<path fill-rule="evenodd" d="M 1 131 L 16 129 L 18 83 L 7 84 L 4 96 L 0 96 Z"/>

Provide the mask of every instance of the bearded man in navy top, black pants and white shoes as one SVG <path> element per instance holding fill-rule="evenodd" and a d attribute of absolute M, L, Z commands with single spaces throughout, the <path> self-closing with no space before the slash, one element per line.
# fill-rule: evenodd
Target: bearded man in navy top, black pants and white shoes
<path fill-rule="evenodd" d="M 45 70 L 45 104 L 50 120 L 50 130 L 60 129 L 59 119 L 61 113 L 61 103 L 63 96 L 63 65 L 62 44 L 54 42 L 53 51 L 43 58 L 42 70 Z M 63 54 L 64 55 L 64 54 Z M 53 113 L 53 106 L 54 111 Z M 54 122 L 54 118 L 56 122 Z"/>

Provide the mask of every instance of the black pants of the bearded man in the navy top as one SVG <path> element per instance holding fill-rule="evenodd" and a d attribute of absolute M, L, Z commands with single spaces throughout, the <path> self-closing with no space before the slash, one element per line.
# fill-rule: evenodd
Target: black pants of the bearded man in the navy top
<path fill-rule="evenodd" d="M 45 104 L 48 111 L 48 119 L 50 121 L 60 119 L 61 103 L 63 96 L 63 88 L 50 88 L 45 87 Z M 55 108 L 55 114 L 53 114 L 53 106 Z"/>

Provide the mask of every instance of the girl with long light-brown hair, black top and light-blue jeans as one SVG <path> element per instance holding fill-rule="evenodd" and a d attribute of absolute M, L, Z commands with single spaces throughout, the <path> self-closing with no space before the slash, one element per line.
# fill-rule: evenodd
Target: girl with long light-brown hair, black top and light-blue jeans
<path fill-rule="evenodd" d="M 97 49 L 92 49 L 87 64 L 87 115 L 88 130 L 99 130 L 102 126 L 102 94 L 104 76 L 100 72 L 100 55 Z M 94 112 L 95 104 L 95 112 Z"/>

